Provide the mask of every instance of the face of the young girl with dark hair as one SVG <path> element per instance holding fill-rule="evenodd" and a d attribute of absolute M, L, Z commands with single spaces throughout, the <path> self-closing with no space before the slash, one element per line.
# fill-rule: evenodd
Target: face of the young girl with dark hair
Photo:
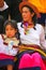
<path fill-rule="evenodd" d="M 13 38 L 13 37 L 15 37 L 16 32 L 17 32 L 17 29 L 13 28 L 11 25 L 6 25 L 6 27 L 5 27 L 6 37 Z"/>

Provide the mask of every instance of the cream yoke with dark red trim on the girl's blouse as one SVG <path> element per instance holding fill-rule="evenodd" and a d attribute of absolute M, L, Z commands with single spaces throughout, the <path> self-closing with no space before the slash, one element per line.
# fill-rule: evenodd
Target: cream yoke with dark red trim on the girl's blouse
<path fill-rule="evenodd" d="M 16 38 L 7 38 L 5 34 L 2 34 L 3 44 L 9 45 L 9 43 L 12 41 L 14 46 L 18 46 L 19 40 Z"/>

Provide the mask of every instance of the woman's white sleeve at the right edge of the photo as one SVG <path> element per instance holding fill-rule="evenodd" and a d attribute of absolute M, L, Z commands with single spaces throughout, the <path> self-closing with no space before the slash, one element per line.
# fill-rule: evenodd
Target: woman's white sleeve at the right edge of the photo
<path fill-rule="evenodd" d="M 45 40 L 45 32 L 43 27 L 41 27 L 40 42 L 41 42 L 42 48 L 46 50 L 46 40 Z"/>

